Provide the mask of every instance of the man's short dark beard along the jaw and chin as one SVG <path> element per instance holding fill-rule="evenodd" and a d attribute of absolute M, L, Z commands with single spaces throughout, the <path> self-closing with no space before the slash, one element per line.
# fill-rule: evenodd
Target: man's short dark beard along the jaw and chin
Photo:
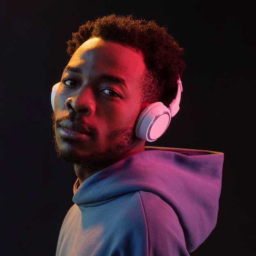
<path fill-rule="evenodd" d="M 63 119 L 67 119 L 67 117 Z M 83 153 L 78 154 L 74 151 L 61 149 L 58 146 L 55 132 L 56 121 L 54 114 L 52 115 L 52 120 L 54 130 L 54 143 L 58 157 L 63 159 L 64 162 L 79 165 L 83 168 L 90 168 L 91 170 L 103 169 L 117 162 L 122 158 L 122 155 L 125 155 L 128 150 L 132 148 L 132 145 L 138 139 L 135 135 L 133 126 L 112 130 L 108 135 L 106 135 L 106 141 L 109 141 L 109 146 L 105 147 L 104 150 L 98 148 L 97 150 L 93 150 L 91 153 L 87 153 L 86 155 L 83 155 Z M 113 138 L 115 138 L 115 140 L 118 142 L 111 143 Z M 70 139 L 63 139 L 63 141 L 68 142 L 70 145 L 76 143 Z"/>

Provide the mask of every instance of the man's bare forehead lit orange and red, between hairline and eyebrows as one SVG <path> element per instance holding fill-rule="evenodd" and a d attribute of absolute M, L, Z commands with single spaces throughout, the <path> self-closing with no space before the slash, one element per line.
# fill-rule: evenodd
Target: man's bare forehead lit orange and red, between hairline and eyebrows
<path fill-rule="evenodd" d="M 101 38 L 91 38 L 74 53 L 68 65 L 85 72 L 113 73 L 126 80 L 139 79 L 146 69 L 142 52 Z"/>

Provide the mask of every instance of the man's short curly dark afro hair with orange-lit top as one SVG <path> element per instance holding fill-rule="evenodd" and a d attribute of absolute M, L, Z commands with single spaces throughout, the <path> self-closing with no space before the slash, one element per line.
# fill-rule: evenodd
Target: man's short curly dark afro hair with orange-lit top
<path fill-rule="evenodd" d="M 168 34 L 166 27 L 132 15 L 102 16 L 72 33 L 72 39 L 67 41 L 67 53 L 72 56 L 80 45 L 93 37 L 133 47 L 144 54 L 147 74 L 143 81 L 143 102 L 162 101 L 168 106 L 175 98 L 177 79 L 182 77 L 186 65 L 181 59 L 183 48 Z"/>

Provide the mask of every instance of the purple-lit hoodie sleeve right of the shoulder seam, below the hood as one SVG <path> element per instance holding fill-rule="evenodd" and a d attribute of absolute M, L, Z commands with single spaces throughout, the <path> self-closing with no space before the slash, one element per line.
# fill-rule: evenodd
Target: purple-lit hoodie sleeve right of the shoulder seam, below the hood
<path fill-rule="evenodd" d="M 189 255 L 184 231 L 174 209 L 154 193 L 140 191 L 150 255 Z M 163 250 L 163 251 L 162 251 Z M 162 254 L 161 254 L 162 253 Z"/>

